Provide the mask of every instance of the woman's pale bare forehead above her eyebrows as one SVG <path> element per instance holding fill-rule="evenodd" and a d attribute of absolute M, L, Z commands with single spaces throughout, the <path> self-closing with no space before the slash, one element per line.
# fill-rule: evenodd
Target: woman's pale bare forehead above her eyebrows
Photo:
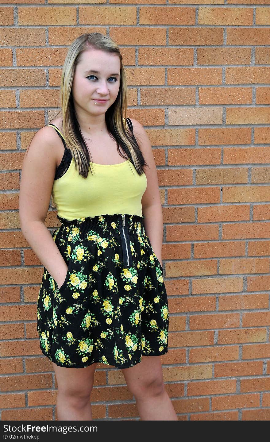
<path fill-rule="evenodd" d="M 77 65 L 80 71 L 119 72 L 120 59 L 115 53 L 108 53 L 101 50 L 89 49 L 81 54 L 81 61 Z"/>

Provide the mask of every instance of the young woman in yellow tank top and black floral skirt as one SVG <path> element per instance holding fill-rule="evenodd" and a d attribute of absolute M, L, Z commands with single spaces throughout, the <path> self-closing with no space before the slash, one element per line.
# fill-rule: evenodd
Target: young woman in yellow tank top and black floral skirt
<path fill-rule="evenodd" d="M 44 265 L 37 330 L 59 420 L 92 420 L 97 362 L 122 369 L 142 420 L 177 420 L 160 362 L 168 304 L 156 165 L 126 110 L 118 46 L 81 35 L 63 66 L 61 117 L 35 133 L 23 160 L 20 225 Z M 61 221 L 53 236 L 44 224 L 51 195 Z"/>

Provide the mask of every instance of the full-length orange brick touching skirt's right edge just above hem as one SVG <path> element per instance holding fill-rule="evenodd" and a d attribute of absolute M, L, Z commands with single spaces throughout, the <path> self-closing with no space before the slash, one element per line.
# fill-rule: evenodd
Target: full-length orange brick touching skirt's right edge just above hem
<path fill-rule="evenodd" d="M 194 347 L 214 343 L 213 331 L 183 331 L 171 332 L 168 337 L 170 347 Z"/>

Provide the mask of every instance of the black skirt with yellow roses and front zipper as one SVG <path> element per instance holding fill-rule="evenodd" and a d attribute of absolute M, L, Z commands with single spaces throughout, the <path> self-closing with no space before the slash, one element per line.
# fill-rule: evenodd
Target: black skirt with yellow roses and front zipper
<path fill-rule="evenodd" d="M 38 294 L 40 348 L 57 366 L 103 362 L 129 368 L 168 348 L 163 268 L 145 234 L 144 215 L 68 221 L 53 240 L 68 265 L 58 288 L 44 267 Z"/>

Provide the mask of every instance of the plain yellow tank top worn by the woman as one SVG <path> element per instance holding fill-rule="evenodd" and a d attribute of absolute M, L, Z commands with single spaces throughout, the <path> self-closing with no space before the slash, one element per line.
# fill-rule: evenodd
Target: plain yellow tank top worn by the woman
<path fill-rule="evenodd" d="M 57 132 L 63 137 L 60 130 Z M 118 164 L 91 163 L 91 166 L 93 175 L 89 172 L 85 179 L 76 171 L 72 158 L 64 175 L 54 180 L 52 196 L 59 217 L 72 221 L 114 213 L 142 215 L 141 198 L 147 187 L 145 173 L 139 175 L 129 160 Z"/>

